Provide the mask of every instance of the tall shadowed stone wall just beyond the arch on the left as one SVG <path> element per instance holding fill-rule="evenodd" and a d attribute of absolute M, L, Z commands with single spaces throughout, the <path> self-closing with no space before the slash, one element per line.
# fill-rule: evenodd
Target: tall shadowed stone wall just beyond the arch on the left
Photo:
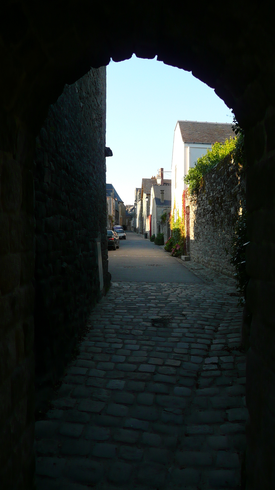
<path fill-rule="evenodd" d="M 66 86 L 36 139 L 35 379 L 43 411 L 78 335 L 100 297 L 96 239 L 105 290 L 106 68 Z"/>

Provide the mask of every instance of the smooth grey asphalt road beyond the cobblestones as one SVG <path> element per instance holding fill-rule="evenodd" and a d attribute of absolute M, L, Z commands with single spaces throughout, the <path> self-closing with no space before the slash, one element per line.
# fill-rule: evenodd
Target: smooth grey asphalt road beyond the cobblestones
<path fill-rule="evenodd" d="M 109 271 L 113 281 L 202 283 L 161 247 L 134 232 L 126 233 L 119 248 L 109 250 Z"/>

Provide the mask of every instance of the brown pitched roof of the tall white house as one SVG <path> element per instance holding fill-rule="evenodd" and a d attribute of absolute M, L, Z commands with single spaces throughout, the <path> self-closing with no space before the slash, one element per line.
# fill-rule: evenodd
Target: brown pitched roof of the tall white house
<path fill-rule="evenodd" d="M 183 143 L 224 143 L 236 135 L 230 123 L 201 123 L 199 121 L 178 121 Z"/>

